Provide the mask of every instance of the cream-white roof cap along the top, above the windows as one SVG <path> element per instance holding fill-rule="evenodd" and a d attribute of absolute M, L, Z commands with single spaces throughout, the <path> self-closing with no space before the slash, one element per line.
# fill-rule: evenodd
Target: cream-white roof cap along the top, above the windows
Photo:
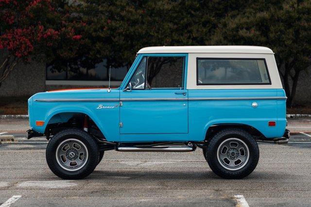
<path fill-rule="evenodd" d="M 274 54 L 266 47 L 259 46 L 162 46 L 142 48 L 139 53 L 257 53 Z"/>

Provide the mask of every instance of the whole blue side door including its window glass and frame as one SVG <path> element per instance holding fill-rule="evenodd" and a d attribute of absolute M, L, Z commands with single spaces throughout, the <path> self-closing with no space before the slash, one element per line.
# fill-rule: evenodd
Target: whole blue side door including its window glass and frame
<path fill-rule="evenodd" d="M 186 57 L 186 54 L 141 57 L 132 78 L 120 92 L 120 134 L 188 133 Z"/>

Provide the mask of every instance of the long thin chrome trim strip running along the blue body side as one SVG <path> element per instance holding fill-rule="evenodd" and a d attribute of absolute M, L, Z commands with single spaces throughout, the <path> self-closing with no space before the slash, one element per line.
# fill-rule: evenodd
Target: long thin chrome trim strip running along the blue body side
<path fill-rule="evenodd" d="M 194 98 L 77 98 L 77 99 L 35 99 L 39 102 L 72 102 L 72 101 L 186 101 L 186 100 L 254 100 L 254 99 L 287 99 L 286 96 L 266 97 L 194 97 Z"/>

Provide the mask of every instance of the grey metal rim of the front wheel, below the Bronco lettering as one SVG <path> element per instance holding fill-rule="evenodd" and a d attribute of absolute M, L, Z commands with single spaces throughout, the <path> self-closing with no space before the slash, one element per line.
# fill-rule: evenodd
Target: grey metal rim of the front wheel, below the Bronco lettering
<path fill-rule="evenodd" d="M 67 139 L 56 149 L 56 160 L 59 166 L 68 171 L 77 171 L 86 164 L 88 151 L 86 145 L 77 139 Z"/>

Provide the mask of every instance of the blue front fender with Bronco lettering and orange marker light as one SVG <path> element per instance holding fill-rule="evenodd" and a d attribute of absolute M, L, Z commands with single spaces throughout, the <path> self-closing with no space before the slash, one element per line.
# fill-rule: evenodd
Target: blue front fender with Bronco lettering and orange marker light
<path fill-rule="evenodd" d="M 68 121 L 70 113 L 84 113 L 94 121 L 108 141 L 119 141 L 119 90 L 109 93 L 102 89 L 45 92 L 35 94 L 32 100 L 30 126 L 37 132 L 44 133 L 49 123 Z M 105 107 L 99 108 L 99 105 Z M 59 113 L 63 115 L 55 117 Z M 44 125 L 36 126 L 35 121 L 44 121 Z"/>

